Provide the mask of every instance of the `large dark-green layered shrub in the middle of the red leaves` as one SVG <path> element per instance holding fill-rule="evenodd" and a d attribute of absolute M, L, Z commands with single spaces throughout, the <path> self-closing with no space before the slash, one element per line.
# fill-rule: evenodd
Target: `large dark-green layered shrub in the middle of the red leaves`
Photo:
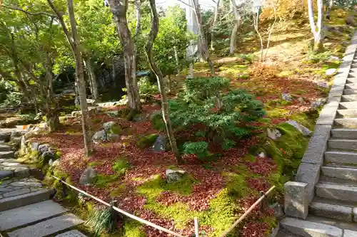
<path fill-rule="evenodd" d="M 228 85 L 229 80 L 218 77 L 186 80 L 185 91 L 169 101 L 174 127 L 178 130 L 195 125 L 203 127 L 200 137 L 221 144 L 223 149 L 233 147 L 234 139 L 249 135 L 244 123 L 263 117 L 263 104 L 244 90 L 229 91 Z M 221 107 L 217 106 L 218 101 Z M 202 153 L 201 142 L 186 144 L 184 152 L 192 154 L 193 147 L 200 148 L 197 152 Z"/>

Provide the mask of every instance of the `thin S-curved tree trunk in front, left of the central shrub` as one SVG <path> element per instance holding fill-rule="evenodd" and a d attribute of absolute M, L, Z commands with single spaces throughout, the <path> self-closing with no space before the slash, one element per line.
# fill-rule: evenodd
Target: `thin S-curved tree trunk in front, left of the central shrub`
<path fill-rule="evenodd" d="M 155 6 L 155 0 L 150 0 L 150 8 L 151 8 L 151 31 L 148 37 L 148 41 L 146 43 L 146 56 L 149 60 L 151 69 L 154 71 L 157 82 L 159 85 L 159 90 L 160 90 L 160 95 L 161 95 L 161 108 L 162 108 L 162 117 L 164 119 L 165 125 L 166 125 L 166 132 L 169 137 L 169 141 L 171 144 L 171 149 L 172 152 L 174 152 L 177 163 L 181 164 L 182 158 L 180 152 L 178 152 L 177 144 L 176 144 L 176 139 L 174 137 L 174 130 L 172 129 L 171 126 L 171 120 L 169 117 L 169 105 L 167 103 L 167 98 L 166 98 L 166 92 L 164 88 L 164 76 L 161 73 L 160 68 L 156 65 L 156 62 L 154 60 L 153 52 L 152 52 L 152 47 L 155 41 L 155 38 L 157 36 L 157 33 L 159 31 L 159 16 L 156 11 L 156 6 Z"/>

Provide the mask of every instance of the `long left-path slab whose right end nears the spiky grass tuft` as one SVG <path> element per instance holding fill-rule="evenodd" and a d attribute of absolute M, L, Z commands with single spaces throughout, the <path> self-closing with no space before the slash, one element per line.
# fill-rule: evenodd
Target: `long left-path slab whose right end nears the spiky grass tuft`
<path fill-rule="evenodd" d="M 36 223 L 33 226 L 19 228 L 16 231 L 9 232 L 8 235 L 9 237 L 44 237 L 73 228 L 81 223 L 84 223 L 84 221 L 76 217 L 74 214 L 64 214 Z"/>

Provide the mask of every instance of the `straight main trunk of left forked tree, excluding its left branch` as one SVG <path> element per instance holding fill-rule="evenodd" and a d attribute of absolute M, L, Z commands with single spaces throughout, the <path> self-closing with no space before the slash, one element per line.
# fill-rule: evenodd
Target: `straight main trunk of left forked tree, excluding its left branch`
<path fill-rule="evenodd" d="M 89 126 L 89 112 L 86 101 L 86 81 L 84 80 L 84 67 L 83 60 L 81 56 L 79 36 L 77 33 L 76 19 L 74 19 L 74 8 L 73 1 L 67 0 L 69 20 L 71 23 L 72 37 L 74 40 L 74 58 L 76 59 L 76 82 L 78 85 L 79 92 L 79 102 L 81 105 L 82 112 L 82 130 L 84 136 L 84 148 L 86 150 L 86 155 L 89 156 L 93 152 L 93 146 L 91 144 L 91 132 Z"/>

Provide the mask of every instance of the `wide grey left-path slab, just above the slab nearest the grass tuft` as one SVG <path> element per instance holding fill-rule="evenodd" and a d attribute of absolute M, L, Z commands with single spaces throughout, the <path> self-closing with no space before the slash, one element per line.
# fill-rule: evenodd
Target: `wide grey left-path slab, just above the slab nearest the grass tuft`
<path fill-rule="evenodd" d="M 0 231 L 25 226 L 52 216 L 64 214 L 66 211 L 61 205 L 51 200 L 2 211 L 0 212 Z"/>

